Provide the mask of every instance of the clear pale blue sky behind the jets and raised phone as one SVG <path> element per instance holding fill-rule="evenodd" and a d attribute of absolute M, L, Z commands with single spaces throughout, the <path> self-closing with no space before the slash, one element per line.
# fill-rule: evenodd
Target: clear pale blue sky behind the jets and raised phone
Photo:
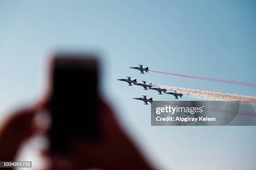
<path fill-rule="evenodd" d="M 159 168 L 252 170 L 255 127 L 151 127 L 147 95 L 128 86 L 148 83 L 256 96 L 256 87 L 173 77 L 136 67 L 256 83 L 256 1 L 0 1 L 0 122 L 44 91 L 49 53 L 96 50 L 102 58 L 102 96 L 123 128 Z M 182 100 L 196 100 L 184 97 Z"/>

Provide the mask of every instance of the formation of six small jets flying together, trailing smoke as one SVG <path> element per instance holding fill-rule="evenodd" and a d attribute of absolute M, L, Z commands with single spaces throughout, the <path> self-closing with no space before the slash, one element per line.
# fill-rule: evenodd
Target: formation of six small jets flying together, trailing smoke
<path fill-rule="evenodd" d="M 139 70 L 141 72 L 141 74 L 144 74 L 144 71 L 145 72 L 148 72 L 148 67 L 146 68 L 143 68 L 142 66 L 143 65 L 139 65 L 140 67 L 130 67 L 130 68 L 133 68 L 133 69 L 136 69 L 136 70 Z M 162 89 L 162 88 L 159 88 L 159 87 L 153 87 L 152 83 L 150 84 L 146 84 L 146 81 L 142 81 L 143 83 L 137 83 L 137 79 L 134 79 L 134 80 L 131 80 L 131 77 L 128 77 L 128 79 L 118 79 L 120 81 L 124 81 L 124 82 L 128 82 L 129 86 L 132 86 L 132 83 L 133 85 L 140 85 L 142 86 L 144 89 L 143 90 L 156 90 L 157 92 L 159 92 L 158 94 L 159 95 L 162 95 L 162 92 L 164 92 L 165 94 L 169 94 L 169 95 L 174 95 L 175 99 L 179 99 L 179 97 L 182 97 L 183 95 L 181 93 L 177 93 L 177 91 L 174 91 L 174 92 L 167 92 L 166 89 Z M 143 98 L 141 97 L 138 97 L 138 98 L 133 98 L 133 99 L 136 99 L 136 100 L 141 100 L 143 102 L 145 102 L 145 105 L 148 105 L 148 102 L 153 102 L 153 99 L 150 98 L 150 99 L 147 99 L 146 98 L 146 95 L 143 95 Z"/>

